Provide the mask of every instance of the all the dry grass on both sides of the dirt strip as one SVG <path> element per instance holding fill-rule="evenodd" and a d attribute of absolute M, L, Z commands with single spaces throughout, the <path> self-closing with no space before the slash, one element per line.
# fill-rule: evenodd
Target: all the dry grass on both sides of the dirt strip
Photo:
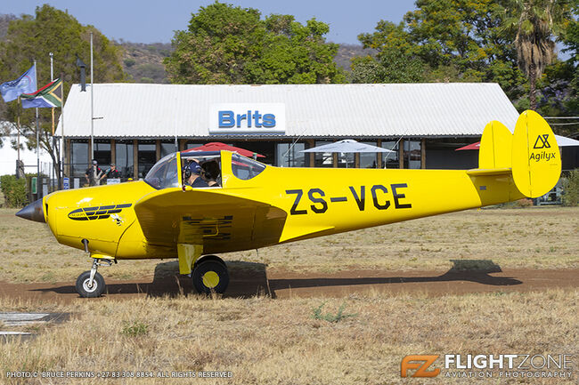
<path fill-rule="evenodd" d="M 74 283 L 89 268 L 76 250 L 55 243 L 42 224 L 0 211 L 0 282 Z M 579 267 L 579 208 L 493 209 L 453 213 L 246 253 L 267 269 L 441 269 L 450 260 L 492 260 L 502 268 Z M 119 261 L 105 277 L 151 277 L 159 261 Z M 0 285 L 2 285 L 0 283 Z M 500 289 L 499 289 L 500 290 Z M 579 290 L 532 293 L 369 292 L 341 298 L 217 298 L 196 295 L 102 298 L 71 302 L 0 297 L 2 311 L 70 313 L 61 324 L 12 330 L 36 337 L 0 340 L 0 383 L 6 384 L 385 384 L 577 383 Z M 321 308 L 322 307 L 322 308 Z M 330 322 L 315 317 L 342 317 Z M 0 325 L 2 328 L 3 325 Z M 402 379 L 411 354 L 571 354 L 567 380 Z M 442 367 L 441 358 L 436 367 Z M 22 381 L 8 371 L 118 371 L 129 378 Z M 165 379 L 160 373 L 231 372 L 227 379 Z M 151 373 L 154 378 L 136 378 Z M 444 373 L 444 372 L 443 372 Z"/>

